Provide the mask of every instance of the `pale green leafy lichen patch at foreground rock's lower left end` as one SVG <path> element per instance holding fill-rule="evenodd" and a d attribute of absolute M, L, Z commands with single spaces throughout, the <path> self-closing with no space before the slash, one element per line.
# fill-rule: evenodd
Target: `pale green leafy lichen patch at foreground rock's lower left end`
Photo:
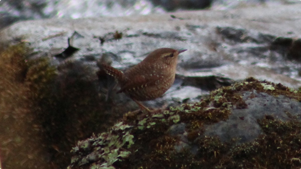
<path fill-rule="evenodd" d="M 89 162 L 100 160 L 106 162 L 101 167 L 98 166 L 99 168 L 114 168 L 114 163 L 123 161 L 124 158 L 129 157 L 131 154 L 131 151 L 126 149 L 130 149 L 134 144 L 134 136 L 129 133 L 129 129 L 132 127 L 119 122 L 109 132 L 100 134 L 96 140 L 92 137 L 79 142 L 78 146 L 80 148 L 76 147 L 71 151 L 77 153 L 77 156 L 71 159 L 71 163 L 73 165 L 84 166 Z M 98 146 L 92 149 L 92 145 Z M 86 151 L 93 151 L 93 155 L 85 156 Z M 98 168 L 97 166 L 93 167 Z"/>

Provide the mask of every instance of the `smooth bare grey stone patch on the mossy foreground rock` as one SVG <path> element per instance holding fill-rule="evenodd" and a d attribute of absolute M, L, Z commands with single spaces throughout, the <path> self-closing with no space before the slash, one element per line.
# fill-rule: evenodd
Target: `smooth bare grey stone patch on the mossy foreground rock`
<path fill-rule="evenodd" d="M 205 135 L 218 136 L 223 142 L 230 142 L 233 138 L 239 138 L 239 143 L 253 141 L 262 129 L 257 123 L 258 119 L 276 118 L 281 121 L 301 119 L 301 103 L 280 95 L 271 96 L 266 93 L 247 91 L 242 94 L 247 104 L 247 109 L 234 109 L 229 119 L 220 121 L 206 128 Z M 295 118 L 292 118 L 295 117 Z"/>

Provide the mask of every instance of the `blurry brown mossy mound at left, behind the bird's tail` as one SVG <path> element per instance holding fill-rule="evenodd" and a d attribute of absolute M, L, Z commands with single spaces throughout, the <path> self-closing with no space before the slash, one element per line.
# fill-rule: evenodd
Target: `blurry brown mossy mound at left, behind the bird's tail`
<path fill-rule="evenodd" d="M 22 40 L 0 51 L 3 168 L 65 168 L 77 140 L 122 117 L 118 109 L 107 112 L 95 70 L 82 62 L 57 65 L 51 56 L 33 57 Z"/>

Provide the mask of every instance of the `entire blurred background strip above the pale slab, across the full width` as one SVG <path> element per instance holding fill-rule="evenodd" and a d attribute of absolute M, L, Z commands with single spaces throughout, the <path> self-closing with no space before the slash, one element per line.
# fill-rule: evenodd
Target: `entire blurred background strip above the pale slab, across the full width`
<path fill-rule="evenodd" d="M 300 0 L 0 0 L 0 29 L 20 20 L 129 16 L 182 10 L 228 10 Z"/>

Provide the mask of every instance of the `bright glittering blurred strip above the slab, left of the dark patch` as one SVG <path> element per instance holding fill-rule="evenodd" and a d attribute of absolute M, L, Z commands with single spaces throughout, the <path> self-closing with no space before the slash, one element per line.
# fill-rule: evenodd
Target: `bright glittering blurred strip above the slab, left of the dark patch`
<path fill-rule="evenodd" d="M 2 1 L 0 6 L 0 29 L 20 20 L 37 20 L 49 18 L 78 19 L 99 16 L 129 16 L 164 13 L 163 8 L 155 7 L 147 0 L 109 0 L 81 1 L 71 0 L 21 0 Z"/>

